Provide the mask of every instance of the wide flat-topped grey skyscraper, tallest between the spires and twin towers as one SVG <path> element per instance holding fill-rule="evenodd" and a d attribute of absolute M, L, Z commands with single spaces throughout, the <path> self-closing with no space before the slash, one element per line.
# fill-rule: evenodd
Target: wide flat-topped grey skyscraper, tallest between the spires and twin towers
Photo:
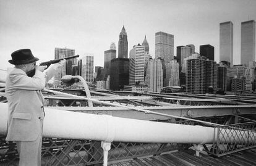
<path fill-rule="evenodd" d="M 155 34 L 155 57 L 161 57 L 164 62 L 173 60 L 174 36 L 162 31 Z"/>

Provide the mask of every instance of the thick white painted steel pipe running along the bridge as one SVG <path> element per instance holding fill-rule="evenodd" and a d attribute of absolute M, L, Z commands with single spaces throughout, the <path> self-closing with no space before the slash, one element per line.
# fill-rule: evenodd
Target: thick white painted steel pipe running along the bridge
<path fill-rule="evenodd" d="M 45 109 L 43 136 L 46 138 L 87 139 L 138 143 L 213 143 L 214 128 L 150 122 L 109 115 L 94 115 L 65 110 Z M 7 104 L 0 102 L 0 134 L 6 135 Z M 244 131 L 242 135 L 255 136 Z M 215 133 L 216 136 L 216 133 Z M 224 136 L 234 142 L 239 136 Z M 229 139 L 230 138 L 230 139 Z M 241 139 L 242 140 L 242 139 Z M 246 140 L 245 140 L 246 141 Z M 249 140 L 255 143 L 255 140 Z"/>

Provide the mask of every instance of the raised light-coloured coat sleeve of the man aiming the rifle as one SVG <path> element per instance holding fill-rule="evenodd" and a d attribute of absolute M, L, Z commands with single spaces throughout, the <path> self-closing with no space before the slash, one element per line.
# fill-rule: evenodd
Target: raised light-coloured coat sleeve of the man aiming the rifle
<path fill-rule="evenodd" d="M 32 78 L 25 73 L 12 73 L 10 80 L 12 87 L 16 89 L 41 90 L 45 88 L 45 74 L 38 70 Z"/>

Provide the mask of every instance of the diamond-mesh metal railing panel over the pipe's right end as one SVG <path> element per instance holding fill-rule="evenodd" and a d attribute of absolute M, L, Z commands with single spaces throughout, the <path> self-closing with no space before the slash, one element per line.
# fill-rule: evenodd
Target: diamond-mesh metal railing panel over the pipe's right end
<path fill-rule="evenodd" d="M 215 133 L 216 136 L 210 150 L 211 154 L 215 156 L 220 157 L 256 147 L 256 122 L 215 127 Z"/>

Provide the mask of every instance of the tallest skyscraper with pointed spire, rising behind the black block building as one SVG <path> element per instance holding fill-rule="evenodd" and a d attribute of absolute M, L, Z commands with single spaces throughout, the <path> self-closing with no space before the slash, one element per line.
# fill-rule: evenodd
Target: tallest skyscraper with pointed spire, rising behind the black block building
<path fill-rule="evenodd" d="M 122 30 L 119 34 L 119 40 L 118 40 L 118 57 L 127 58 L 127 56 L 128 56 L 127 33 L 124 26 L 122 26 Z"/>

